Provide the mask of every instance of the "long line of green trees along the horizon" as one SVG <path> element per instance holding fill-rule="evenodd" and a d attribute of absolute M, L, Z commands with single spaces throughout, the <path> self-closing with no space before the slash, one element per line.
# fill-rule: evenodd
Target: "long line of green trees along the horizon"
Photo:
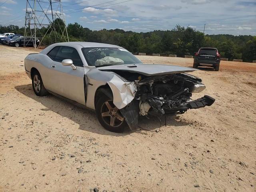
<path fill-rule="evenodd" d="M 58 21 L 56 23 L 61 22 Z M 59 28 L 61 27 L 63 28 L 63 26 L 59 26 Z M 47 29 L 41 28 L 40 31 L 44 34 Z M 56 30 L 60 31 L 58 27 L 56 27 Z M 84 28 L 76 22 L 68 24 L 67 30 L 70 41 L 100 42 L 119 45 L 134 54 L 144 52 L 146 54 L 160 53 L 161 55 L 176 54 L 177 56 L 183 57 L 184 55 L 194 55 L 200 47 L 214 47 L 218 49 L 222 58 L 228 58 L 229 60 L 243 59 L 244 62 L 256 60 L 256 36 L 251 35 L 204 35 L 202 32 L 193 28 L 180 25 L 177 25 L 172 30 L 155 30 L 140 33 L 121 29 L 96 31 Z M 4 32 L 24 35 L 24 27 L 0 25 L 0 33 Z M 52 33 L 50 36 L 44 38 L 42 45 L 48 46 L 52 43 L 62 41 L 60 38 L 54 38 Z"/>

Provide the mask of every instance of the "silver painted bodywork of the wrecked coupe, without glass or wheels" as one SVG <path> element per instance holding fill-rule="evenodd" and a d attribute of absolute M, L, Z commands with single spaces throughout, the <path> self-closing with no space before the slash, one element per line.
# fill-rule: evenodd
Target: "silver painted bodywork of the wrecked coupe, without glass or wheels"
<path fill-rule="evenodd" d="M 69 46 L 75 48 L 80 55 L 80 58 L 84 64 L 84 68 L 78 67 L 76 70 L 72 70 L 70 66 L 63 66 L 60 62 L 55 62 L 51 60 L 47 54 L 52 50 L 52 48 L 56 46 Z M 114 48 L 122 48 L 115 45 L 110 44 L 101 44 L 101 43 L 92 43 L 92 42 L 64 42 L 64 43 L 56 43 L 48 46 L 44 50 L 42 50 L 39 54 L 30 54 L 25 58 L 25 69 L 30 76 L 30 72 L 32 68 L 36 68 L 44 82 L 44 86 L 47 90 L 55 92 L 61 96 L 64 96 L 70 100 L 74 100 L 80 104 L 85 105 L 88 108 L 95 109 L 94 106 L 94 98 L 97 89 L 100 86 L 104 86 L 108 84 L 113 93 L 113 102 L 117 108 L 122 109 L 126 105 L 128 105 L 133 99 L 136 93 L 136 83 L 135 82 L 128 82 L 124 80 L 124 78 L 120 77 L 119 75 L 113 72 L 105 72 L 99 70 L 95 66 L 88 66 L 81 48 L 83 47 L 114 47 Z M 52 68 L 52 65 L 56 65 L 55 68 Z M 138 64 L 138 66 L 143 64 Z M 144 67 L 143 65 L 142 67 Z M 150 65 L 147 65 L 150 66 Z M 123 66 L 126 67 L 126 66 Z M 168 69 L 167 69 L 168 67 Z M 112 66 L 108 67 L 101 67 L 102 70 L 111 70 L 116 68 L 122 68 L 120 66 Z M 128 67 L 126 67 L 128 68 Z M 164 70 L 161 71 L 157 70 L 157 68 L 161 68 Z M 144 74 L 170 74 L 171 73 L 180 73 L 180 72 L 190 72 L 194 71 L 195 69 L 192 68 L 184 68 L 184 67 L 174 67 L 172 66 L 154 66 L 154 69 L 151 68 L 150 70 L 146 70 L 146 72 L 140 72 Z M 136 68 L 129 68 L 133 72 L 136 72 Z M 154 73 L 153 70 L 157 70 L 157 73 Z M 169 73 L 168 73 L 169 71 Z M 84 85 L 84 76 L 88 81 L 86 85 Z M 86 86 L 86 90 L 84 87 Z M 86 94 L 86 95 L 85 95 Z M 85 97 L 86 96 L 86 97 Z M 86 98 L 86 101 L 85 101 Z"/>

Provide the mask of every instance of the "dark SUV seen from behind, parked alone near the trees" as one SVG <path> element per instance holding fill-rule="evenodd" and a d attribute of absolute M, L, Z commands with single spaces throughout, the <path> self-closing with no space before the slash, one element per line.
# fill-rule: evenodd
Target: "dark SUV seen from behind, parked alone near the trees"
<path fill-rule="evenodd" d="M 215 68 L 216 71 L 220 68 L 220 54 L 216 48 L 200 48 L 194 57 L 193 68 L 198 66 L 208 66 Z"/>

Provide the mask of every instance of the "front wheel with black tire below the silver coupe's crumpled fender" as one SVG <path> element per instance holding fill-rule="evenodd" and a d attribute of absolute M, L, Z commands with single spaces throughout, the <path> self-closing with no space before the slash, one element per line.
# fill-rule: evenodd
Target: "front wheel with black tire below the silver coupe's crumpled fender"
<path fill-rule="evenodd" d="M 96 115 L 100 124 L 110 132 L 123 132 L 127 124 L 120 110 L 113 104 L 113 100 L 104 93 L 100 93 L 96 104 Z"/>

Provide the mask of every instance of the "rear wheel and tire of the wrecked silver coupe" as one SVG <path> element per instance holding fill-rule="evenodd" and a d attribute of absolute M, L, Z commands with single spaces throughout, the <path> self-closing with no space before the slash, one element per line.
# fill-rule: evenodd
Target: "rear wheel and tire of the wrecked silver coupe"
<path fill-rule="evenodd" d="M 32 78 L 32 87 L 37 96 L 46 96 L 48 95 L 48 91 L 44 87 L 42 78 L 38 71 L 35 71 L 31 74 Z"/>

